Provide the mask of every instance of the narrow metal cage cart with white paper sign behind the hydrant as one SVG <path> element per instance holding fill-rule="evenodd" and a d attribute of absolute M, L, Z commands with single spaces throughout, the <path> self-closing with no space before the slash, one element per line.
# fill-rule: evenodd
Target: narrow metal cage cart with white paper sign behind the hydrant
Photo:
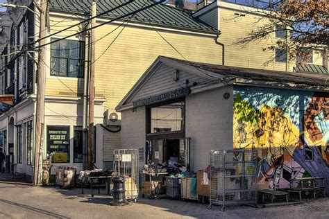
<path fill-rule="evenodd" d="M 126 200 L 137 201 L 138 198 L 138 150 L 113 150 L 115 172 L 125 177 Z"/>

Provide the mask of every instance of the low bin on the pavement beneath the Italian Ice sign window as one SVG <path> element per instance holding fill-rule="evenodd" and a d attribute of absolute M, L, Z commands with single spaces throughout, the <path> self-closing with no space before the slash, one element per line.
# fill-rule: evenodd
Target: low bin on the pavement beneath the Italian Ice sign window
<path fill-rule="evenodd" d="M 69 189 L 76 185 L 76 167 L 59 166 L 56 169 L 56 184 L 64 189 Z"/>

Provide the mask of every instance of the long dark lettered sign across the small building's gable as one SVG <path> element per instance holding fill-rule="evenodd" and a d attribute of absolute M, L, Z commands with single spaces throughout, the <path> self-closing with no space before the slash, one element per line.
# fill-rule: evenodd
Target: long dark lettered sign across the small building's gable
<path fill-rule="evenodd" d="M 189 95 L 189 92 L 190 92 L 189 87 L 184 87 L 184 88 L 176 89 L 174 91 L 169 91 L 164 94 L 159 94 L 159 95 L 155 95 L 155 96 L 150 96 L 148 98 L 136 100 L 135 102 L 133 102 L 133 105 L 134 105 L 134 107 L 140 107 L 143 105 L 160 103 L 160 102 L 164 102 L 167 100 L 174 100 L 176 98 L 180 98 L 180 97 Z"/>

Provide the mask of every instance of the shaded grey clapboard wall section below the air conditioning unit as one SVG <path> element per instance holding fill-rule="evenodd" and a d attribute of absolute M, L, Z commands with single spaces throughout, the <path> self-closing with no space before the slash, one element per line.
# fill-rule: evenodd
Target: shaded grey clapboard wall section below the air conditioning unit
<path fill-rule="evenodd" d="M 113 160 L 113 150 L 121 148 L 120 132 L 103 132 L 103 161 Z"/>

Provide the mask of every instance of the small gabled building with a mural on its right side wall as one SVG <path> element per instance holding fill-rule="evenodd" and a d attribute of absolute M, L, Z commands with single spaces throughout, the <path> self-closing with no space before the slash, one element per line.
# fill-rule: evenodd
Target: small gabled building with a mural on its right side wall
<path fill-rule="evenodd" d="M 122 146 L 144 148 L 141 168 L 170 159 L 194 172 L 210 165 L 210 150 L 255 148 L 262 188 L 289 188 L 289 179 L 311 176 L 323 177 L 328 193 L 325 80 L 159 57 L 117 107 Z"/>

